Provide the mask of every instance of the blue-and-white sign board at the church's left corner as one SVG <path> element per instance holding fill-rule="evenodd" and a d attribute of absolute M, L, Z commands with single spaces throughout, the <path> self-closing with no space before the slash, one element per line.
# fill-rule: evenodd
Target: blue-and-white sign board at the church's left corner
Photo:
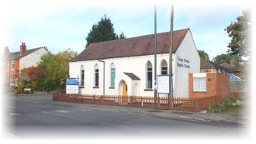
<path fill-rule="evenodd" d="M 67 78 L 66 94 L 78 94 L 79 82 L 75 78 Z"/>

